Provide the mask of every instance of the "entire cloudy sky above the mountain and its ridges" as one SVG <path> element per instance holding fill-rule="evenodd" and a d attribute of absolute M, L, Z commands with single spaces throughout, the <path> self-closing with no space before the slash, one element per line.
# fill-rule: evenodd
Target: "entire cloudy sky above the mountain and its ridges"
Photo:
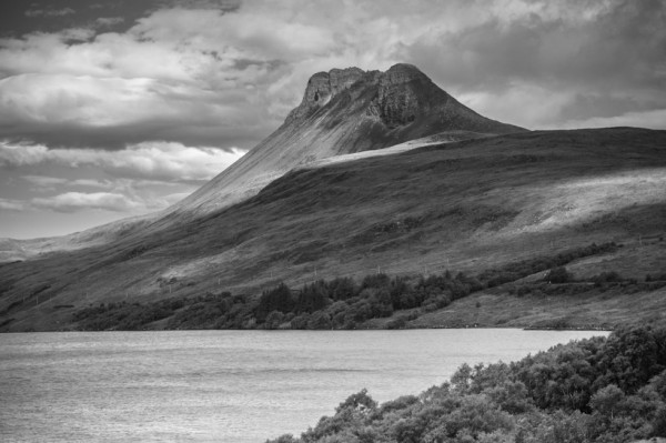
<path fill-rule="evenodd" d="M 528 129 L 666 129 L 663 0 L 3 0 L 0 238 L 159 211 L 317 71 L 418 67 Z"/>

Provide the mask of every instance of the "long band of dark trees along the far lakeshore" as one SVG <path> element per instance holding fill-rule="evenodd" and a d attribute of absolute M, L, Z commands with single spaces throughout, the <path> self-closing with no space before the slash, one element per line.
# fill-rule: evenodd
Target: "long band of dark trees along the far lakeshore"
<path fill-rule="evenodd" d="M 442 309 L 473 292 L 503 286 L 515 296 L 526 294 L 575 295 L 619 288 L 623 293 L 666 285 L 666 275 L 645 281 L 603 272 L 579 281 L 564 266 L 584 256 L 615 251 L 618 245 L 592 244 L 551 258 L 537 258 L 486 270 L 476 276 L 444 272 L 433 275 L 390 276 L 370 274 L 320 280 L 299 289 L 280 283 L 260 295 L 206 293 L 152 303 L 107 303 L 74 313 L 80 330 L 141 330 L 155 322 L 165 329 L 356 329 L 372 319 L 392 318 L 389 329 L 404 328 L 418 315 Z M 516 281 L 545 272 L 536 282 Z M 566 328 L 563 325 L 555 325 Z"/>

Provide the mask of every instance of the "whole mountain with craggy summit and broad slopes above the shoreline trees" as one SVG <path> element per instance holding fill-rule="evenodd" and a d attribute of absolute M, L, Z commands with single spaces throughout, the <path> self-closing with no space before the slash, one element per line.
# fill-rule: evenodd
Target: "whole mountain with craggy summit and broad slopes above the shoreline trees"
<path fill-rule="evenodd" d="M 664 147 L 666 131 L 494 122 L 408 66 L 315 74 L 281 128 L 181 203 L 112 225 L 104 241 L 0 265 L 0 329 L 72 328 L 75 312 L 99 303 L 223 291 L 252 299 L 280 281 L 474 275 L 593 242 L 623 246 L 572 262 L 576 274 L 643 279 L 666 269 Z M 642 303 L 623 304 L 625 316 L 658 312 L 663 290 L 638 295 Z M 543 296 L 474 296 L 513 306 L 485 324 L 548 316 Z M 598 320 L 599 303 L 598 312 L 618 312 L 608 294 L 589 300 L 592 316 L 574 324 Z M 415 322 L 446 324 L 460 303 Z M 465 305 L 465 315 L 481 319 L 478 305 Z"/>

